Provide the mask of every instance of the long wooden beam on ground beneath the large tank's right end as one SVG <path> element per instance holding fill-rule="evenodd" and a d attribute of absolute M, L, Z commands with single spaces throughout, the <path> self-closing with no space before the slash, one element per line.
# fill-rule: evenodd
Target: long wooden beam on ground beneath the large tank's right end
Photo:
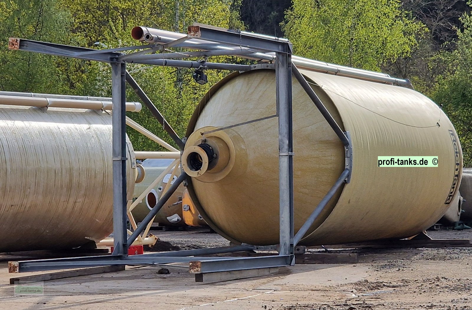
<path fill-rule="evenodd" d="M 470 248 L 472 239 L 431 239 L 431 240 L 383 240 L 346 244 L 325 245 L 326 249 L 399 249 L 399 248 Z M 311 246 L 309 249 L 322 249 L 322 246 Z"/>

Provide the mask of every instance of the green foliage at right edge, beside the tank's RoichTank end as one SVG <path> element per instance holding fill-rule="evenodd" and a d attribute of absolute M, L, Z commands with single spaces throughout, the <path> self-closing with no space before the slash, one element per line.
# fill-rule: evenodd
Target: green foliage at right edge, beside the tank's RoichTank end
<path fill-rule="evenodd" d="M 457 49 L 445 53 L 447 72 L 438 78 L 431 97 L 443 105 L 453 122 L 464 153 L 464 166 L 472 167 L 472 16 L 462 17 L 464 30 L 457 32 Z"/>

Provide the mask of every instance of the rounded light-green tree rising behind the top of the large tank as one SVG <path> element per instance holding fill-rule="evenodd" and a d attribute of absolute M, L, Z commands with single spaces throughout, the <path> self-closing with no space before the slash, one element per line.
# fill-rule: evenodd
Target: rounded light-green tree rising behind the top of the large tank
<path fill-rule="evenodd" d="M 409 54 L 425 31 L 398 0 L 294 0 L 286 19 L 295 54 L 376 71 Z"/>

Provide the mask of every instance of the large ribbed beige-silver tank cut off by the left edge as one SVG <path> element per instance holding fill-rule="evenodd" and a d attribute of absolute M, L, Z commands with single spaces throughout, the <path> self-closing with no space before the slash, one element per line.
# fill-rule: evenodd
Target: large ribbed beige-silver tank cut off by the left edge
<path fill-rule="evenodd" d="M 0 105 L 0 252 L 74 248 L 113 231 L 111 118 Z M 127 142 L 131 199 L 135 163 Z"/>

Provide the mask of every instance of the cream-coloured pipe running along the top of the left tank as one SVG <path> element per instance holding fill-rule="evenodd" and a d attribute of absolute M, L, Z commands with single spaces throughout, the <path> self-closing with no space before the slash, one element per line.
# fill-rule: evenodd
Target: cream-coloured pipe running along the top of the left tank
<path fill-rule="evenodd" d="M 0 95 L 0 104 L 18 105 L 18 106 L 35 106 L 40 108 L 71 108 L 71 109 L 90 109 L 90 110 L 111 110 L 111 102 L 93 101 L 93 100 L 73 100 L 73 99 L 56 99 L 41 97 L 22 97 Z M 141 111 L 141 103 L 127 102 L 126 111 Z"/>

